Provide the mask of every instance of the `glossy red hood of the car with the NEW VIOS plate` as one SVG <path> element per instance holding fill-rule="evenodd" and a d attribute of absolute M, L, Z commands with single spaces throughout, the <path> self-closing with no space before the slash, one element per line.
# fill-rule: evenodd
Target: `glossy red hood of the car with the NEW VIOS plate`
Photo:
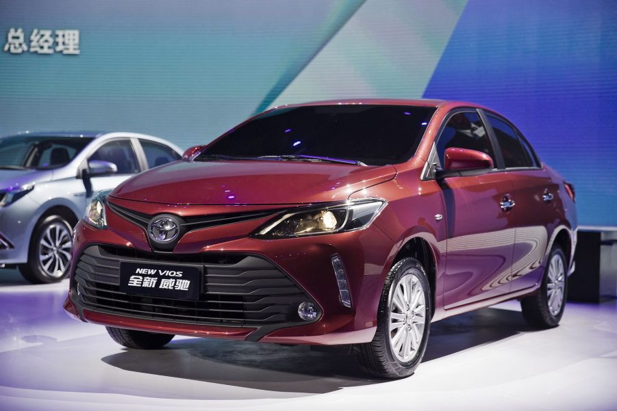
<path fill-rule="evenodd" d="M 111 196 L 162 204 L 305 204 L 346 200 L 395 175 L 391 165 L 175 161 L 129 178 Z"/>

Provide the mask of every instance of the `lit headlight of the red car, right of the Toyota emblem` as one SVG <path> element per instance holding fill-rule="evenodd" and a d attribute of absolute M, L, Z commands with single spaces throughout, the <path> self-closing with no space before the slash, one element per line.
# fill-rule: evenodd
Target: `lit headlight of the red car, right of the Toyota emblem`
<path fill-rule="evenodd" d="M 361 230 L 375 220 L 386 204 L 378 198 L 363 198 L 325 207 L 307 207 L 266 224 L 257 230 L 255 237 L 275 239 Z"/>

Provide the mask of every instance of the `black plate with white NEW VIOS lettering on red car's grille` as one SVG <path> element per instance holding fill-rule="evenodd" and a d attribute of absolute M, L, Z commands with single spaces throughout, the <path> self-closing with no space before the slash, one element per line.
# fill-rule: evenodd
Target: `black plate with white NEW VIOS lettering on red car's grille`
<path fill-rule="evenodd" d="M 201 267 L 120 263 L 120 291 L 152 297 L 199 300 Z"/>

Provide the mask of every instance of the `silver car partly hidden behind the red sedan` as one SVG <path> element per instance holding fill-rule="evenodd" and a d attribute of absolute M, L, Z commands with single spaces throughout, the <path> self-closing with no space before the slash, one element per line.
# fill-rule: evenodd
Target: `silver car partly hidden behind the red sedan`
<path fill-rule="evenodd" d="M 0 137 L 0 267 L 31 282 L 60 281 L 71 262 L 73 226 L 92 196 L 181 158 L 137 133 L 23 133 Z"/>

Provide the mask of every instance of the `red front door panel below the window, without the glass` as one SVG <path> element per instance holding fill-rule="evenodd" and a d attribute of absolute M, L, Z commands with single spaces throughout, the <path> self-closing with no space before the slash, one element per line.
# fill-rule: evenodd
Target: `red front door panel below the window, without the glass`
<path fill-rule="evenodd" d="M 515 222 L 501 203 L 512 189 L 503 172 L 446 179 L 446 309 L 509 291 Z"/>

